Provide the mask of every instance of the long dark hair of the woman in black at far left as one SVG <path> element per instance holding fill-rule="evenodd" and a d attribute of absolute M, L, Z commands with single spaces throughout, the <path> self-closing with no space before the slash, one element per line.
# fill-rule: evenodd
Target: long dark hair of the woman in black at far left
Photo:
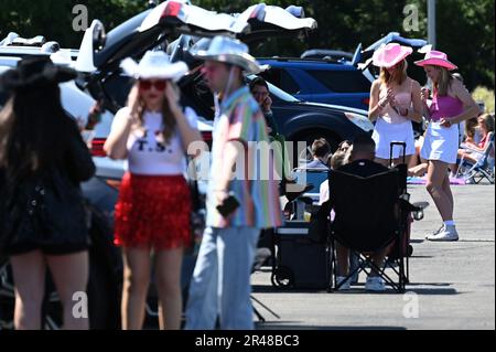
<path fill-rule="evenodd" d="M 0 167 L 18 182 L 60 166 L 76 131 L 57 84 L 15 92 L 0 111 Z"/>

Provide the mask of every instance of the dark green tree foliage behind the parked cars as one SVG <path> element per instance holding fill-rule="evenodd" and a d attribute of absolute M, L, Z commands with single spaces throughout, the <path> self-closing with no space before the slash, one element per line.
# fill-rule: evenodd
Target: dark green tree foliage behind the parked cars
<path fill-rule="evenodd" d="M 208 10 L 235 13 L 255 0 L 193 0 Z M 266 0 L 267 4 L 302 6 L 319 29 L 306 40 L 270 39 L 254 45 L 257 56 L 299 56 L 306 49 L 334 49 L 353 52 L 388 32 L 407 38 L 427 38 L 427 0 Z M 438 0 L 438 45 L 460 67 L 467 87 L 494 89 L 494 0 Z M 22 36 L 43 34 L 63 46 L 77 47 L 82 32 L 72 30 L 74 6 L 86 4 L 89 22 L 100 19 L 107 30 L 147 9 L 148 0 L 0 0 L 0 38 L 15 31 Z M 419 31 L 403 30 L 403 8 L 414 4 Z"/>

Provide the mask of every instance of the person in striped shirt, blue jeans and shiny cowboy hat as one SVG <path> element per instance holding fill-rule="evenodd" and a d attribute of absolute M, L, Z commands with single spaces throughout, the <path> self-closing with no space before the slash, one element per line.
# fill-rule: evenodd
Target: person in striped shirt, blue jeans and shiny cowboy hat
<path fill-rule="evenodd" d="M 223 102 L 213 136 L 208 227 L 191 282 L 186 329 L 214 329 L 217 317 L 220 329 L 254 329 L 250 274 L 258 236 L 281 225 L 277 183 L 254 175 L 272 171 L 270 158 L 257 159 L 254 143 L 268 142 L 267 125 L 242 77 L 259 66 L 245 44 L 224 36 L 195 54 Z"/>

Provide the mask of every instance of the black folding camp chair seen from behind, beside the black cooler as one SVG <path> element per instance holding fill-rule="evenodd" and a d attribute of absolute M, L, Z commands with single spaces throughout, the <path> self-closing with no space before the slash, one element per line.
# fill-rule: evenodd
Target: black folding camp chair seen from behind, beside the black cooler
<path fill-rule="evenodd" d="M 355 273 L 370 274 L 368 270 L 373 268 L 396 291 L 405 291 L 408 277 L 405 271 L 407 255 L 403 250 L 393 256 L 392 260 L 385 260 L 381 268 L 371 260 L 373 254 L 386 250 L 393 244 L 400 244 L 399 247 L 403 248 L 401 244 L 405 244 L 408 214 L 421 211 L 405 199 L 403 178 L 403 172 L 398 168 L 368 178 L 338 170 L 330 173 L 330 205 L 335 212 L 330 235 L 333 248 L 331 264 L 334 271 L 331 290 L 338 289 Z M 335 275 L 336 243 L 360 257 L 358 267 L 339 285 Z M 393 280 L 386 273 L 388 267 L 398 276 L 398 280 Z"/>

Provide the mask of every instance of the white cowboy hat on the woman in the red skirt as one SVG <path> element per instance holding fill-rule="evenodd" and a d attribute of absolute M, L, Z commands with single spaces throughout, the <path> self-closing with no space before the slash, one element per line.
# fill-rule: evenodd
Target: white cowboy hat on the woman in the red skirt
<path fill-rule="evenodd" d="M 188 71 L 182 62 L 171 63 L 169 55 L 161 51 L 148 51 L 138 64 L 132 58 L 126 58 L 120 63 L 126 74 L 137 79 L 171 79 L 177 82 Z"/>

